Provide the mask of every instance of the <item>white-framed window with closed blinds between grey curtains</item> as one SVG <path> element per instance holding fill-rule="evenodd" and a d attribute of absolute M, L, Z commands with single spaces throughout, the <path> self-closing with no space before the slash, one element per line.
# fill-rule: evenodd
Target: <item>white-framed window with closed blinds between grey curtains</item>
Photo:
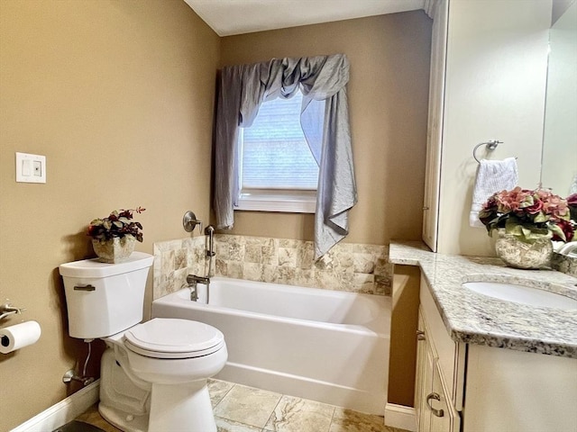
<path fill-rule="evenodd" d="M 318 165 L 300 126 L 300 92 L 261 103 L 239 132 L 239 210 L 314 213 Z"/>

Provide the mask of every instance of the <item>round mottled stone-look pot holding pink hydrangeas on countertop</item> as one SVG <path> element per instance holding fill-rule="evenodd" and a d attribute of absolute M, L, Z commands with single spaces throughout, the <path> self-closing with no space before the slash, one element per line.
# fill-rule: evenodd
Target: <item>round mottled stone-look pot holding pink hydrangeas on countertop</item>
<path fill-rule="evenodd" d="M 499 232 L 495 251 L 509 267 L 539 269 L 551 266 L 553 244 L 550 238 L 537 238 L 527 243 L 512 234 Z"/>

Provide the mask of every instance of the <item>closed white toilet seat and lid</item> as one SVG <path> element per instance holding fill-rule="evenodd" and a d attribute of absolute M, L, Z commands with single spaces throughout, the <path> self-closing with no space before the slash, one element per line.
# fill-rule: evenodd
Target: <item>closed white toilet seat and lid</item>
<path fill-rule="evenodd" d="M 224 347 L 224 335 L 202 322 L 155 318 L 126 330 L 124 346 L 152 358 L 194 358 Z"/>

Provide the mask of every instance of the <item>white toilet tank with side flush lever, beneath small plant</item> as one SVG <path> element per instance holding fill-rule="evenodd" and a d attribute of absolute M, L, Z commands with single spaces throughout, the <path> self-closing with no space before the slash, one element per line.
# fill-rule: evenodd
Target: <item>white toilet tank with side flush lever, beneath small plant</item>
<path fill-rule="evenodd" d="M 101 263 L 95 258 L 60 265 L 69 335 L 105 338 L 141 322 L 146 279 L 153 259 L 149 254 L 133 252 L 118 264 Z"/>

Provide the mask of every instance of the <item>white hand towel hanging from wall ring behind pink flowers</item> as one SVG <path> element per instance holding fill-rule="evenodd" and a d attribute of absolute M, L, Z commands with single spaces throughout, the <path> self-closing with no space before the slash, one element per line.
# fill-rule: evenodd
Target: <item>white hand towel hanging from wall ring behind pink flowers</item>
<path fill-rule="evenodd" d="M 472 190 L 472 206 L 469 214 L 469 225 L 483 228 L 479 220 L 479 211 L 490 195 L 517 186 L 517 159 L 508 157 L 504 160 L 481 159 L 477 178 Z"/>

